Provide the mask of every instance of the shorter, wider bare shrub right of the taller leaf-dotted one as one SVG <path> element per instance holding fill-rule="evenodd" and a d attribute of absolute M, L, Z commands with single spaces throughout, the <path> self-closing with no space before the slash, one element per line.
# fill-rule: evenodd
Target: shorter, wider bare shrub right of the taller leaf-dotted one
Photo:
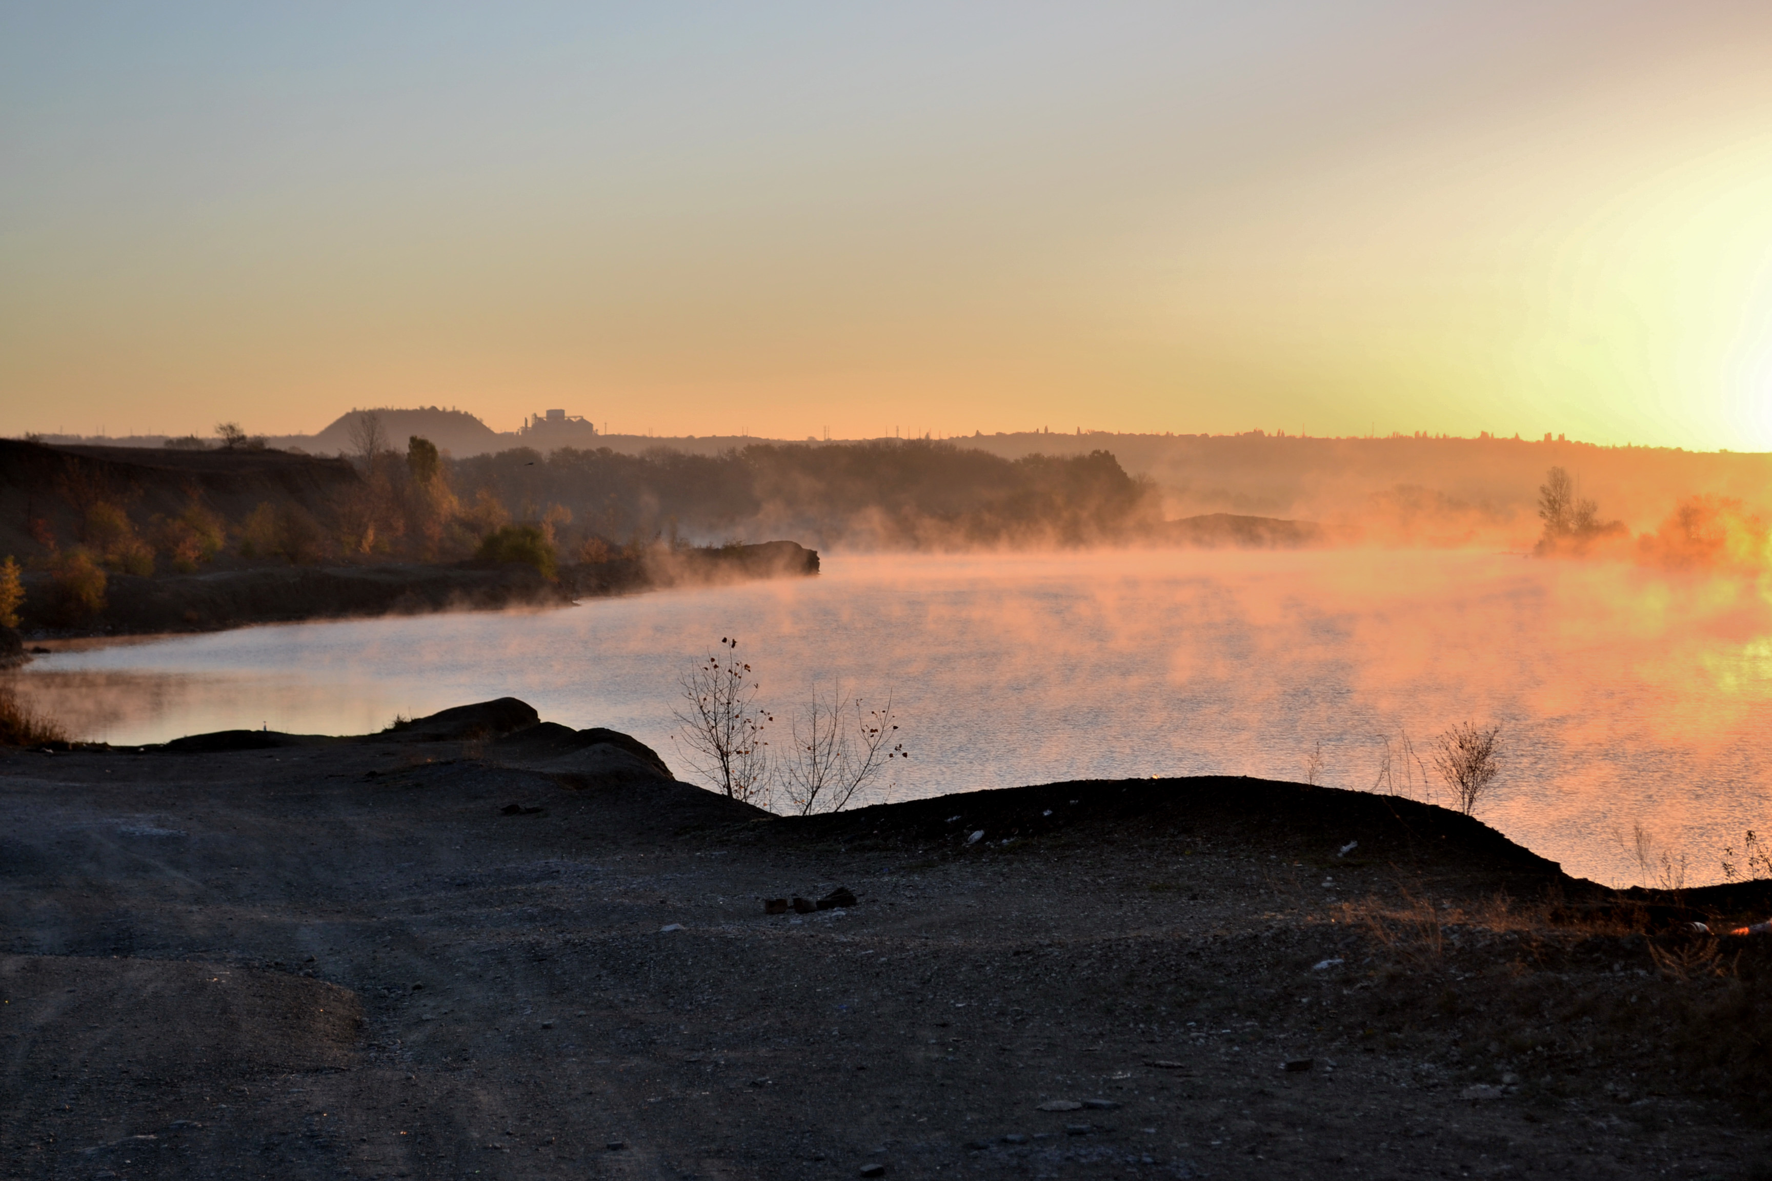
<path fill-rule="evenodd" d="M 810 699 L 792 719 L 792 754 L 781 760 L 781 786 L 801 816 L 849 807 L 858 791 L 874 784 L 895 758 L 911 758 L 893 721 L 891 694 L 886 705 L 863 710 L 861 698 L 847 698 L 842 685 L 828 696 L 812 687 Z"/>

